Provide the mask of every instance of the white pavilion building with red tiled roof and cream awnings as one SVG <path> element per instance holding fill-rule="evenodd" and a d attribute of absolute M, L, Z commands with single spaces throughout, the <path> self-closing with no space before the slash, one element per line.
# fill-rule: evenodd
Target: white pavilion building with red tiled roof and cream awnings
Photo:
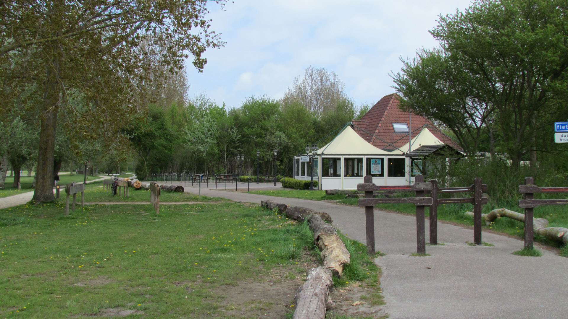
<path fill-rule="evenodd" d="M 361 120 L 346 124 L 331 142 L 309 155 L 294 157 L 294 178 L 311 179 L 313 165 L 313 178 L 322 190 L 357 189 L 365 175 L 371 175 L 377 185 L 406 185 L 414 182 L 431 154 L 453 150 L 461 156 L 460 146 L 431 121 L 400 110 L 399 99 L 397 94 L 384 96 Z"/>

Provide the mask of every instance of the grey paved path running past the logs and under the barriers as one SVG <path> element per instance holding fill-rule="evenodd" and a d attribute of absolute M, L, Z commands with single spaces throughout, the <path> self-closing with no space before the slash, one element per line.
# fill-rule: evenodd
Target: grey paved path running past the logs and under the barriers
<path fill-rule="evenodd" d="M 339 229 L 365 242 L 363 208 L 204 188 L 201 194 L 252 203 L 273 199 L 328 212 Z M 515 256 L 511 253 L 523 241 L 488 232 L 483 241 L 495 246 L 469 246 L 465 242 L 473 241 L 473 229 L 440 223 L 438 239 L 445 245 L 427 246 L 431 257 L 411 257 L 415 217 L 376 210 L 375 237 L 377 249 L 386 253 L 375 262 L 383 270 L 384 310 L 392 319 L 564 318 L 568 313 L 568 258 L 553 251 Z"/>

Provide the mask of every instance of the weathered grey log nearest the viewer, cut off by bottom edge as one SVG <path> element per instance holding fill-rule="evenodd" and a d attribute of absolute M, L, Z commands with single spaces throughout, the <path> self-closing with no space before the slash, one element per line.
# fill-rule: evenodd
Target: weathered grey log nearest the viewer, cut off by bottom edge
<path fill-rule="evenodd" d="M 325 309 L 331 305 L 329 290 L 333 286 L 331 271 L 324 267 L 307 271 L 306 282 L 294 296 L 296 309 L 293 319 L 324 319 Z"/>

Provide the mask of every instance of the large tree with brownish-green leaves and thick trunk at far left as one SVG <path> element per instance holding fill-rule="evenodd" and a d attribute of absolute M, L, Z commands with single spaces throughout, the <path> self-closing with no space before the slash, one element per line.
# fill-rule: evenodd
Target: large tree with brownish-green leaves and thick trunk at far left
<path fill-rule="evenodd" d="M 207 48 L 220 47 L 206 16 L 207 0 L 36 2 L 8 0 L 0 5 L 0 77 L 6 87 L 34 83 L 39 96 L 40 127 L 34 201 L 53 200 L 53 157 L 57 115 L 68 108 L 69 93 L 82 94 L 90 112 L 77 116 L 75 134 L 91 128 L 122 125 L 137 110 L 132 95 L 151 67 L 147 52 L 136 51 L 148 40 L 166 48 L 161 61 L 181 69 L 187 53 L 202 70 Z M 224 3 L 224 0 L 216 1 Z M 2 90 L 5 100 L 13 90 Z M 9 104 L 0 104 L 2 111 Z M 82 125 L 80 125 L 82 124 Z"/>

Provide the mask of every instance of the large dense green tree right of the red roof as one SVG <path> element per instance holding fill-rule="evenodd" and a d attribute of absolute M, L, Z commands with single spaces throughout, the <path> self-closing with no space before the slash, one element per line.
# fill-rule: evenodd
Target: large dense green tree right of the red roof
<path fill-rule="evenodd" d="M 485 130 L 491 152 L 498 145 L 514 167 L 531 159 L 534 169 L 538 151 L 563 147 L 550 136 L 551 124 L 566 118 L 567 9 L 563 1 L 482 0 L 442 16 L 431 31 L 440 48 L 407 61 L 395 89 L 465 148 L 477 150 Z"/>

